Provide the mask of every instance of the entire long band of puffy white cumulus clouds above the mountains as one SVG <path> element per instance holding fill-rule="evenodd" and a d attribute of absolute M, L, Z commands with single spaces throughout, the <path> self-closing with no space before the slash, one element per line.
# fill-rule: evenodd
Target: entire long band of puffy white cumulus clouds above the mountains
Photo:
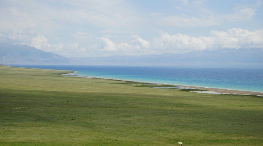
<path fill-rule="evenodd" d="M 160 31 L 158 38 L 146 41 L 139 35 L 131 35 L 131 41 L 116 43 L 107 37 L 91 35 L 86 32 L 72 33 L 78 40 L 96 38 L 94 44 L 58 43 L 49 44 L 48 39 L 38 35 L 31 40 L 30 46 L 46 52 L 73 56 L 81 53 L 82 56 L 109 56 L 109 55 L 146 55 L 161 53 L 186 53 L 194 50 L 217 50 L 222 48 L 263 48 L 263 29 L 249 31 L 241 28 L 231 28 L 226 31 L 211 30 L 210 36 L 189 36 L 186 34 L 169 34 Z M 1 34 L 0 34 L 1 36 Z M 96 43 L 95 43 L 96 42 Z"/>

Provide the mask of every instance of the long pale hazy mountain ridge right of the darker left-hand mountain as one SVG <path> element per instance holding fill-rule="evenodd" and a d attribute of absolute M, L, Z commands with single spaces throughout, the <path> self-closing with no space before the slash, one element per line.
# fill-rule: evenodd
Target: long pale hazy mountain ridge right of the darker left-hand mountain
<path fill-rule="evenodd" d="M 263 49 L 221 49 L 214 51 L 191 51 L 185 54 L 108 56 L 78 58 L 81 62 L 96 65 L 254 65 L 263 66 Z"/>

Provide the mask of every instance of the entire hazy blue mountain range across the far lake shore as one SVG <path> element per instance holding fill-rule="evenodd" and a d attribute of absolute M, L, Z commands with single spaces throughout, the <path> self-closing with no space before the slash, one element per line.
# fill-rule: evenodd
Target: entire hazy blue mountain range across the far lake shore
<path fill-rule="evenodd" d="M 184 54 L 66 58 L 27 45 L 0 43 L 0 64 L 263 67 L 263 49 L 228 48 L 214 51 L 191 51 Z"/>

